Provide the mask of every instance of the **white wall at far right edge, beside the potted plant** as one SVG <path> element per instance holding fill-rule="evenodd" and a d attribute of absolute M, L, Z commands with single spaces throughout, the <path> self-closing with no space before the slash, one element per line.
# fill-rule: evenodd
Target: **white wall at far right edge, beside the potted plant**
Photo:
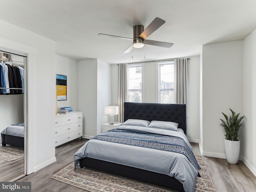
<path fill-rule="evenodd" d="M 240 155 L 256 175 L 256 30 L 244 39 L 244 128 L 240 133 Z"/>

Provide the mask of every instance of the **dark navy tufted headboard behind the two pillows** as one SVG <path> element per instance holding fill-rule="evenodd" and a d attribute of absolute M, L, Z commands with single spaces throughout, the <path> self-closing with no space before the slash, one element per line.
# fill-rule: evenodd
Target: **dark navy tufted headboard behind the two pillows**
<path fill-rule="evenodd" d="M 186 134 L 186 105 L 159 103 L 124 103 L 124 121 L 127 119 L 143 119 L 171 121 L 178 123 L 178 128 Z"/>

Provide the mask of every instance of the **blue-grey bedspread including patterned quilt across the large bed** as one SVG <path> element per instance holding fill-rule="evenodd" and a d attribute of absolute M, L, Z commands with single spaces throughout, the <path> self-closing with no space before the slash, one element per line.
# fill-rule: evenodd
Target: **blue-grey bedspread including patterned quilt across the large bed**
<path fill-rule="evenodd" d="M 194 191 L 199 176 L 192 147 L 180 131 L 119 126 L 86 142 L 74 155 L 75 167 L 87 157 L 174 177 L 185 192 Z"/>

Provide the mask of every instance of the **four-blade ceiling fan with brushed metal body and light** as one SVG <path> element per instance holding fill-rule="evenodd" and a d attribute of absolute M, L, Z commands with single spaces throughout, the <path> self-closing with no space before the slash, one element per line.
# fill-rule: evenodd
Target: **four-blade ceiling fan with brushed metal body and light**
<path fill-rule="evenodd" d="M 98 35 L 109 36 L 109 37 L 113 37 L 113 38 L 121 38 L 124 40 L 133 41 L 133 43 L 123 53 L 129 53 L 133 48 L 142 48 L 144 46 L 144 44 L 170 48 L 171 46 L 173 46 L 173 43 L 167 43 L 167 42 L 146 39 L 146 38 L 148 38 L 148 36 L 150 36 L 154 31 L 156 31 L 164 23 L 165 23 L 164 20 L 156 17 L 145 30 L 144 30 L 143 25 L 134 26 L 133 27 L 133 39 L 127 38 L 127 37 L 102 34 L 102 33 L 99 33 Z"/>

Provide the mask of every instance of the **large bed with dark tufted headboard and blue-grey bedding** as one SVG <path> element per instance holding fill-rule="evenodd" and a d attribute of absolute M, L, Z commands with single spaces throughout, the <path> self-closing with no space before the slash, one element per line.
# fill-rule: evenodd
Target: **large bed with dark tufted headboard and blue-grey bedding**
<path fill-rule="evenodd" d="M 178 124 L 179 131 L 124 125 L 129 120 L 145 120 L 150 123 L 153 121 L 174 122 Z M 186 105 L 125 102 L 124 121 L 125 123 L 122 126 L 100 134 L 86 142 L 74 155 L 75 166 L 77 166 L 79 162 L 81 168 L 94 168 L 181 192 L 193 192 L 196 177 L 200 176 L 198 172 L 200 166 L 197 162 L 192 164 L 184 154 L 162 149 L 159 150 L 158 148 L 155 149 L 155 146 L 153 146 L 153 148 L 152 146 L 149 148 L 141 147 L 139 146 L 141 143 L 139 143 L 139 145 L 138 143 L 134 144 L 137 146 L 126 145 L 122 143 L 122 136 L 120 137 L 121 139 L 117 139 L 122 140 L 121 143 L 108 141 L 109 136 L 112 134 L 111 132 L 117 132 L 122 135 L 129 135 L 136 132 L 136 135 L 139 133 L 139 137 L 142 137 L 142 135 L 147 132 L 146 137 L 154 137 L 156 134 L 158 138 L 161 139 L 161 142 L 168 140 L 167 138 L 169 137 L 175 137 L 180 141 L 180 137 L 176 135 L 179 134 L 184 138 L 184 142 L 188 143 L 187 145 L 189 146 L 187 148 L 191 150 L 189 153 L 192 153 L 192 148 L 185 136 Z M 148 130 L 150 130 L 150 134 L 148 134 Z M 162 132 L 163 136 L 161 134 Z M 184 134 L 180 134 L 180 132 L 184 132 Z M 174 136 L 168 135 L 170 133 L 174 134 Z M 159 135 L 161 137 L 159 137 Z M 97 140 L 97 137 L 106 140 Z M 129 140 L 133 139 L 132 137 L 133 135 L 130 136 Z M 94 154 L 97 151 L 99 152 Z M 104 152 L 106 152 L 106 154 L 102 154 Z M 115 152 L 117 152 L 117 154 Z M 194 154 L 192 154 L 192 156 L 194 156 Z M 182 172 L 180 171 L 181 169 Z"/>

